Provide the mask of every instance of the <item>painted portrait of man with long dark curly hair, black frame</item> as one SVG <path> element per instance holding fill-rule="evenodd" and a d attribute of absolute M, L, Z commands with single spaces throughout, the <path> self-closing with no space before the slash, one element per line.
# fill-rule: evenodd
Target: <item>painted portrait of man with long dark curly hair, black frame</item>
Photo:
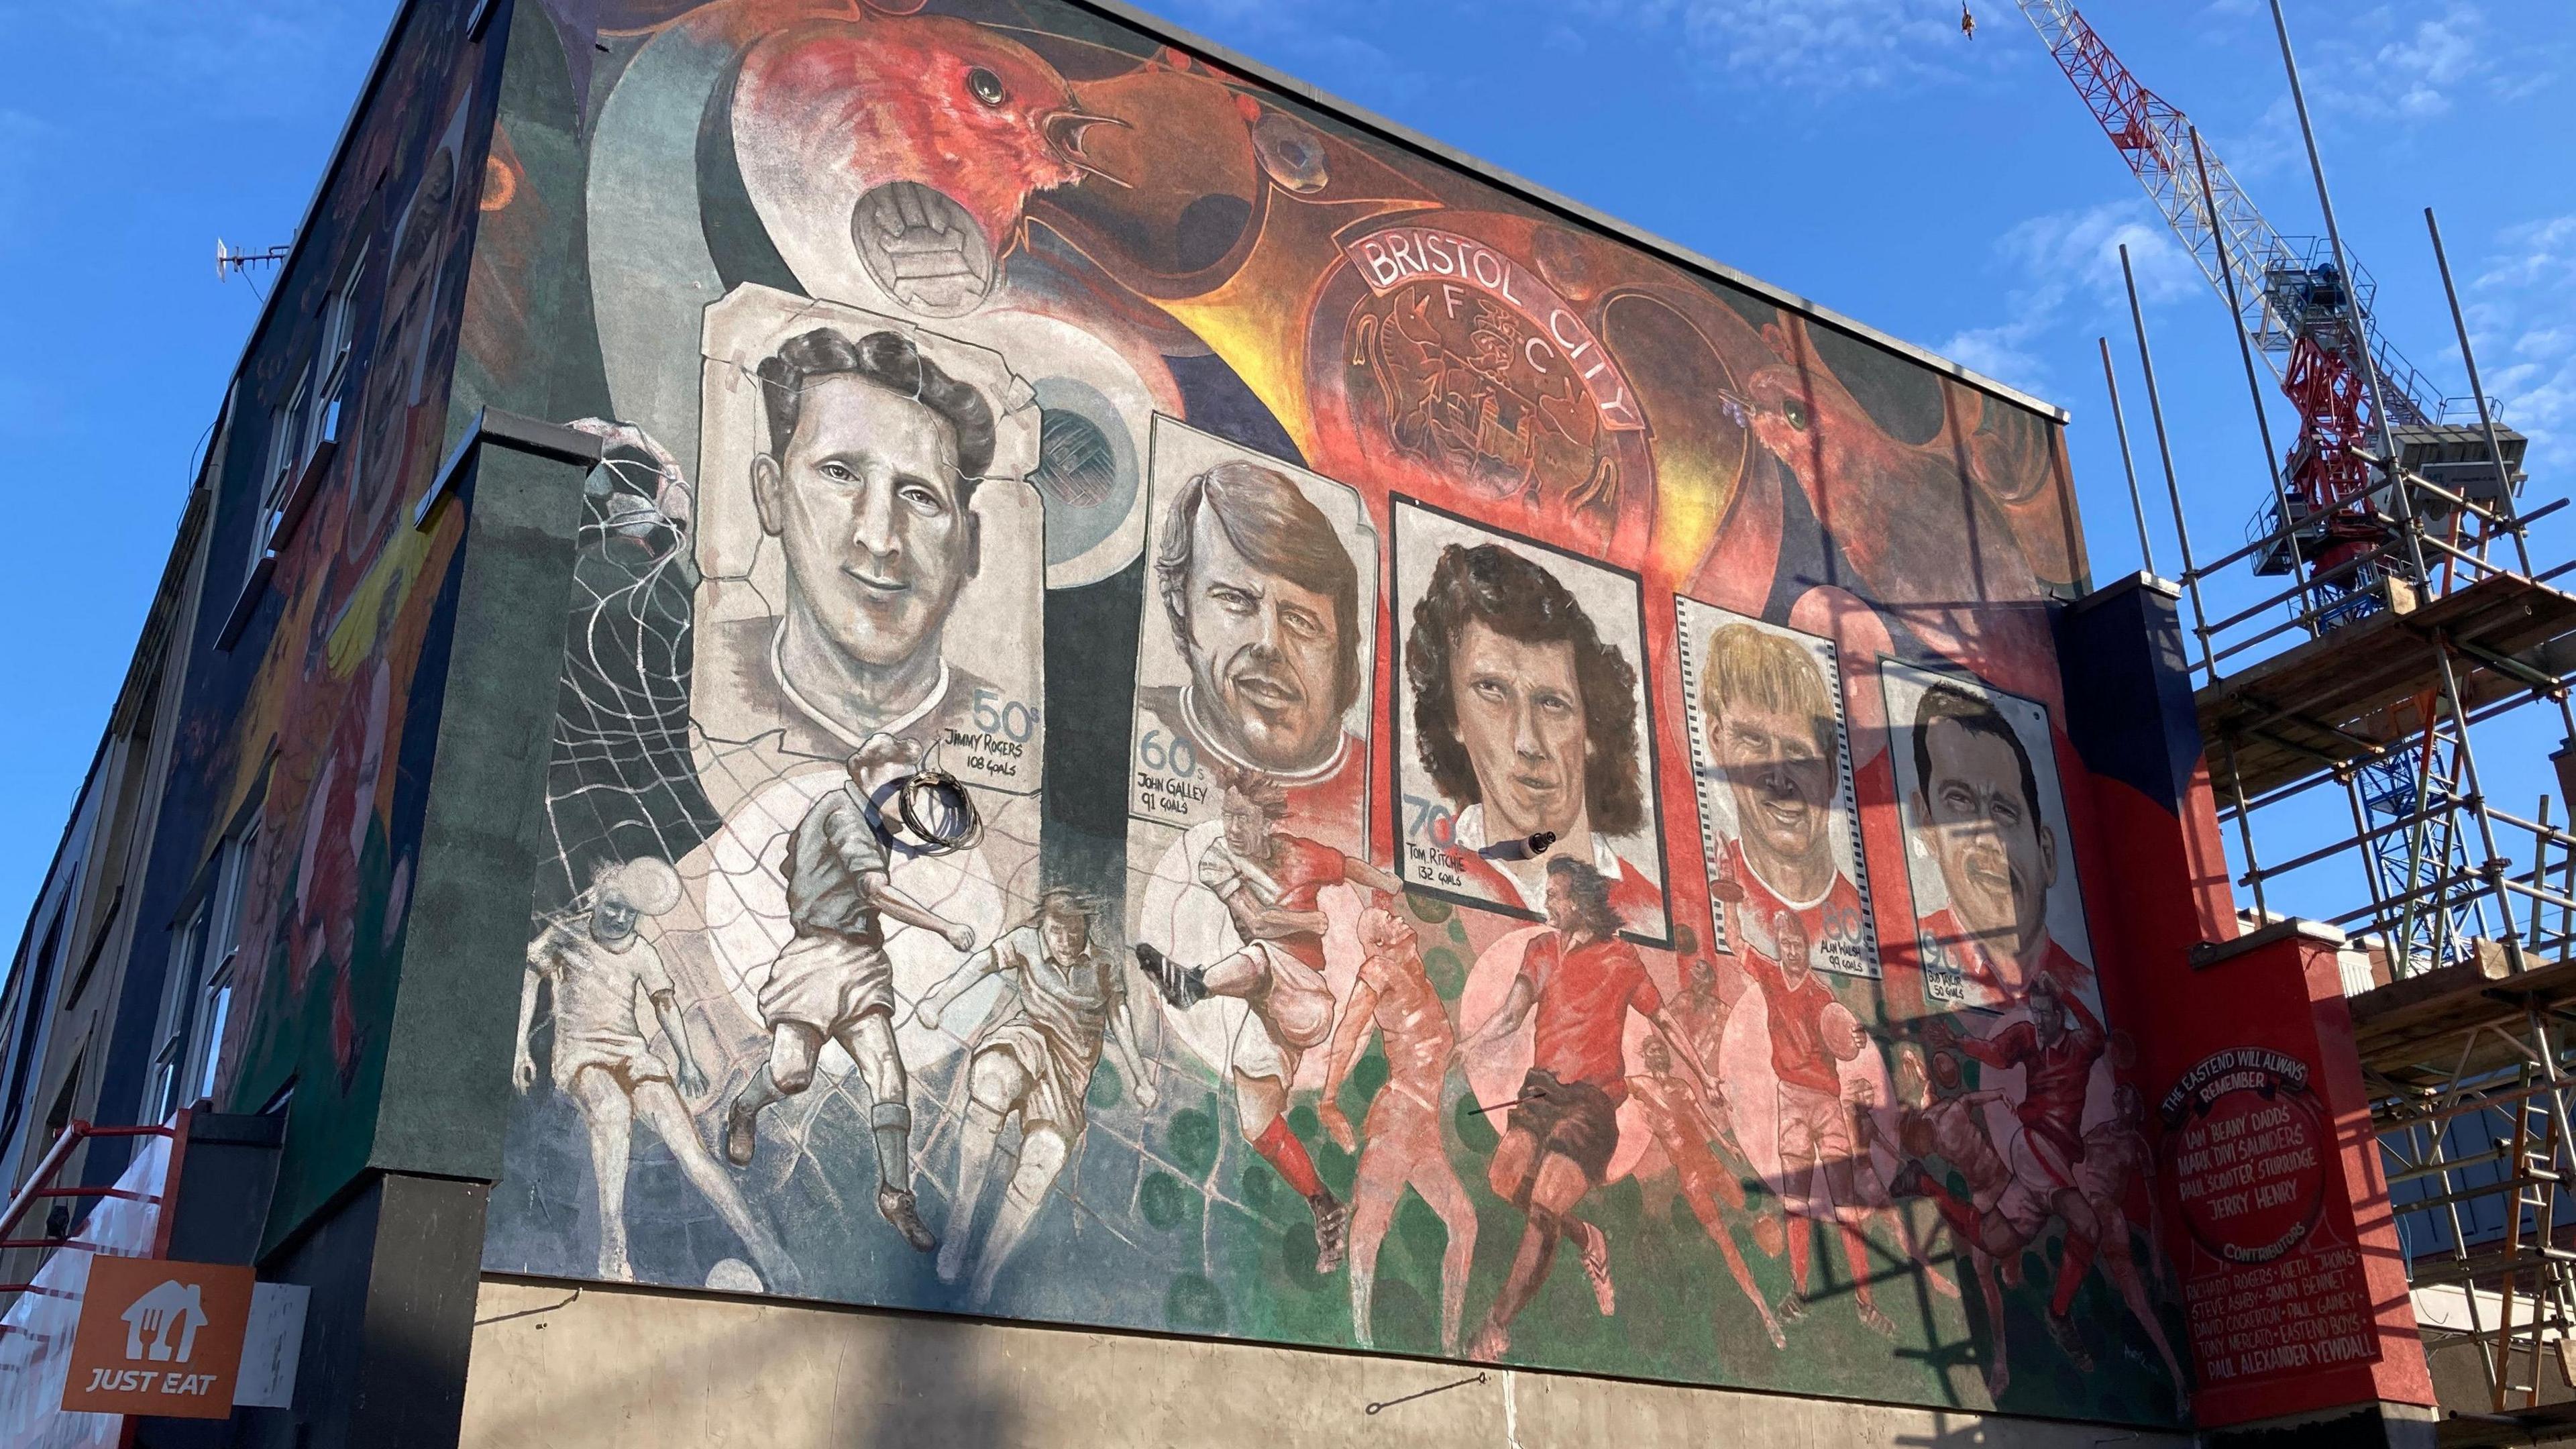
<path fill-rule="evenodd" d="M 1396 508 L 1404 879 L 1546 910 L 1551 859 L 1664 936 L 1636 580 L 1427 508 Z"/>

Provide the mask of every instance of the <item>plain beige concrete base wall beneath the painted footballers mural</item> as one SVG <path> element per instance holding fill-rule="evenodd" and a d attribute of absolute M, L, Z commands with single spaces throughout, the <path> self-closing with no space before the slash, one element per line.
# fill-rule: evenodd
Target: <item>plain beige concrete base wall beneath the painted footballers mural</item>
<path fill-rule="evenodd" d="M 1571 1374 L 484 1279 L 464 1449 L 2184 1449 L 2190 1436 Z"/>

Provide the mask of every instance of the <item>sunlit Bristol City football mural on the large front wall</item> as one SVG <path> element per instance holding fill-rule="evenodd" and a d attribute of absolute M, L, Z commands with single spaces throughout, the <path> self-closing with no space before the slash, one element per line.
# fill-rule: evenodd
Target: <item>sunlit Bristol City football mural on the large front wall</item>
<path fill-rule="evenodd" d="M 1051 0 L 549 18 L 492 1269 L 2177 1415 L 2045 418 Z"/>

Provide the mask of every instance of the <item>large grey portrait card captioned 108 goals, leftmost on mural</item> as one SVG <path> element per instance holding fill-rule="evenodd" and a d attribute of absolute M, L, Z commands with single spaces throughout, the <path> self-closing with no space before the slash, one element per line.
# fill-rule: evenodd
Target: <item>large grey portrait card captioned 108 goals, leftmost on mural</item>
<path fill-rule="evenodd" d="M 742 286 L 706 312 L 703 376 L 703 740 L 760 740 L 796 768 L 884 732 L 966 784 L 1036 794 L 1038 407 L 1007 358 Z M 891 485 L 863 482 L 871 467 Z"/>

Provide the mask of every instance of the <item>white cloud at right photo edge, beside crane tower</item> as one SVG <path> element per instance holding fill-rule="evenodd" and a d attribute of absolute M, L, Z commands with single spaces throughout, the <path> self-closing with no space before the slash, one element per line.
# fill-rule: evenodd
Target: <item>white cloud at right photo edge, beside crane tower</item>
<path fill-rule="evenodd" d="M 2576 214 L 2499 232 L 2468 291 L 2486 392 L 2532 441 L 2527 472 L 2566 477 L 2576 467 Z"/>

